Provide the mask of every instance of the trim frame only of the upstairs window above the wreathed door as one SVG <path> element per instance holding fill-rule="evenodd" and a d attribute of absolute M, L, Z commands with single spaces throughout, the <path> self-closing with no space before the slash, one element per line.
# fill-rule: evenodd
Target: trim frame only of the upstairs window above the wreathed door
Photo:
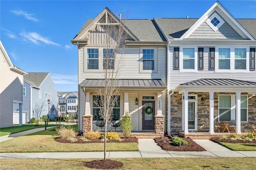
<path fill-rule="evenodd" d="M 154 70 L 143 70 L 143 49 L 154 49 Z M 140 73 L 157 73 L 157 48 L 155 47 L 140 47 Z"/>

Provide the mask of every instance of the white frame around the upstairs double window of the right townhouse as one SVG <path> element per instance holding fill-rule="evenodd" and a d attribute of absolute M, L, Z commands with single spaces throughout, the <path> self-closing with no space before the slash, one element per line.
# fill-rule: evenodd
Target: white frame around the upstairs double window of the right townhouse
<path fill-rule="evenodd" d="M 219 48 L 230 49 L 230 69 L 219 69 Z M 246 49 L 246 69 L 235 69 L 235 49 Z M 215 72 L 219 73 L 248 73 L 250 72 L 250 47 L 249 46 L 216 46 L 215 47 Z"/>

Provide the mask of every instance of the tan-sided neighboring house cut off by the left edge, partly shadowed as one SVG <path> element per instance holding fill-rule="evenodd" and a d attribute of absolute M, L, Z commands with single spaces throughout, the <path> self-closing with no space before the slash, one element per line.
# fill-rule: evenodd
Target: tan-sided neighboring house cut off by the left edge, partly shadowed
<path fill-rule="evenodd" d="M 0 40 L 0 127 L 13 125 L 13 108 L 18 108 L 18 124 L 22 125 L 22 86 L 26 72 L 12 64 Z M 26 116 L 26 115 L 25 115 Z"/>

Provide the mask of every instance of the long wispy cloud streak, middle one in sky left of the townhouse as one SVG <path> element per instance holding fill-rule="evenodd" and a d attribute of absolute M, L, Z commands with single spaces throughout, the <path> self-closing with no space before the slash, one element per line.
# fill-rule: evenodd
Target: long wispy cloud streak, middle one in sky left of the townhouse
<path fill-rule="evenodd" d="M 35 44 L 40 44 L 40 42 L 42 42 L 42 43 L 46 43 L 48 45 L 60 46 L 60 44 L 52 42 L 48 38 L 43 37 L 43 36 L 39 35 L 36 32 L 26 33 L 26 32 L 23 31 L 23 32 L 20 33 L 20 35 L 24 38 L 24 40 L 30 41 L 30 42 L 35 43 Z"/>

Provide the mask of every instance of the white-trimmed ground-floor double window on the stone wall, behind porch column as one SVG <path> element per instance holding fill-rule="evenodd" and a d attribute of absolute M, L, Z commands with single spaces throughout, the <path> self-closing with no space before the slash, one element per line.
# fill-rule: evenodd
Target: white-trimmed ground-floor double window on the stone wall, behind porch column
<path fill-rule="evenodd" d="M 241 95 L 241 122 L 248 120 L 248 97 Z M 236 95 L 219 95 L 219 121 L 236 120 Z"/>

